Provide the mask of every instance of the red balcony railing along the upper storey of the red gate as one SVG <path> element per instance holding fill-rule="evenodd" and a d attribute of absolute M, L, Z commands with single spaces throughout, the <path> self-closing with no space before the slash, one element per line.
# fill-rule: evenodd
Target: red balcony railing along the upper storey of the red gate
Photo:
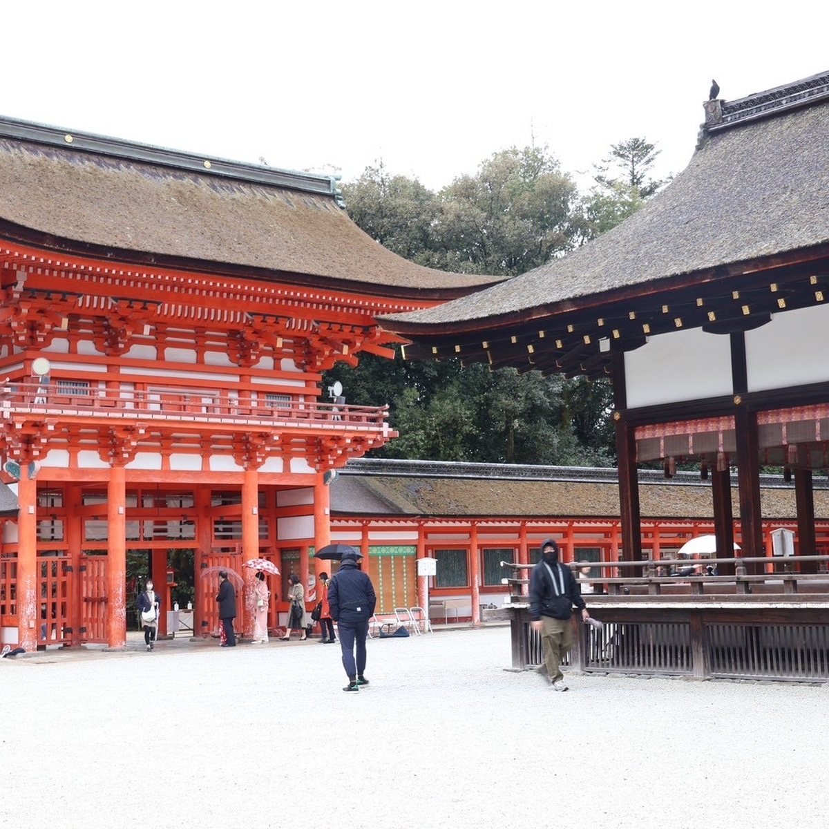
<path fill-rule="evenodd" d="M 354 406 L 317 400 L 267 400 L 260 395 L 211 394 L 201 390 L 153 390 L 75 388 L 53 384 L 0 385 L 0 416 L 49 412 L 94 414 L 108 418 L 255 421 L 267 424 L 311 425 L 320 428 L 383 428 L 388 405 Z"/>

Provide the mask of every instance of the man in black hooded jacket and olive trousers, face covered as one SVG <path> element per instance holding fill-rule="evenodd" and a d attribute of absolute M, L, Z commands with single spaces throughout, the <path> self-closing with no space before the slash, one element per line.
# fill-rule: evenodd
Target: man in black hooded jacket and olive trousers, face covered
<path fill-rule="evenodd" d="M 555 691 L 566 691 L 561 659 L 573 647 L 573 606 L 581 610 L 581 618 L 590 618 L 579 583 L 570 567 L 559 562 L 559 545 L 552 539 L 541 545 L 541 561 L 530 576 L 530 617 L 533 630 L 541 633 L 541 647 L 547 675 Z"/>

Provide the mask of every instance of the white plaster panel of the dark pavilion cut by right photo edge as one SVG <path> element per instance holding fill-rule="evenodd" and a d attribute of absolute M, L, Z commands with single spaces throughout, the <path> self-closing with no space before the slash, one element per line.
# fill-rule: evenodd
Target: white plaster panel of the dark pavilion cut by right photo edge
<path fill-rule="evenodd" d="M 774 314 L 771 322 L 745 332 L 749 391 L 829 381 L 829 307 Z"/>

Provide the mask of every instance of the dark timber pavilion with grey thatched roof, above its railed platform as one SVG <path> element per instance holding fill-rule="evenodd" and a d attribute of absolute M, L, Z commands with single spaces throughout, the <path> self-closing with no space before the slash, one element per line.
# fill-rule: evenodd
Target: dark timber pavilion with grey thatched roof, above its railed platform
<path fill-rule="evenodd" d="M 686 170 L 618 227 L 381 322 L 412 341 L 407 358 L 610 378 L 623 560 L 645 551 L 644 462 L 667 477 L 696 464 L 717 550 L 739 537 L 749 560 L 768 552 L 760 473 L 781 469 L 797 554 L 814 555 L 815 476 L 829 468 L 829 72 L 704 109 Z"/>

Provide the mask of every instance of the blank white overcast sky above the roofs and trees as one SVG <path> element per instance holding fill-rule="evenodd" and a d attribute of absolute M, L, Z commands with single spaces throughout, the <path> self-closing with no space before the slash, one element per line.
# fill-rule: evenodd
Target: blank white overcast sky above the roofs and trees
<path fill-rule="evenodd" d="M 734 99 L 829 69 L 817 0 L 0 7 L 4 116 L 346 181 L 382 158 L 431 188 L 533 137 L 589 173 L 642 136 L 680 172 L 712 77 Z"/>

